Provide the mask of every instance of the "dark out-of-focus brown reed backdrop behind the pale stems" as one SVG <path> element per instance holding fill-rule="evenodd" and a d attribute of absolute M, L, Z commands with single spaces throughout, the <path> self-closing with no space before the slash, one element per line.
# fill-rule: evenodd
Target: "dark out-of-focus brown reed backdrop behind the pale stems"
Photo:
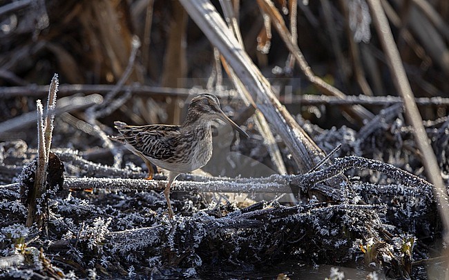
<path fill-rule="evenodd" d="M 274 2 L 287 26 L 296 23 L 292 33 L 297 34 L 298 46 L 318 77 L 345 94 L 396 95 L 364 0 Z M 220 2 L 212 3 L 221 12 Z M 294 96 L 317 94 L 289 59 L 276 30 L 271 30 L 267 19 L 264 23 L 257 1 L 233 3 L 245 50 L 274 86 L 291 86 Z M 414 94 L 446 97 L 448 1 L 382 3 Z M 297 6 L 293 15 L 292 5 Z M 62 84 L 117 83 L 128 64 L 133 35 L 142 46 L 128 84 L 206 88 L 213 72 L 213 48 L 178 1 L 20 0 L 0 1 L 0 6 L 0 86 L 46 85 L 55 72 Z M 284 88 L 279 89 L 283 94 Z M 159 95 L 158 101 L 171 102 L 163 93 Z M 289 109 L 298 113 L 295 100 L 287 103 L 293 102 Z M 10 110 L 1 110 L 1 119 L 35 106 L 26 96 L 7 101 L 14 103 L 8 103 Z M 443 115 L 439 111 L 433 117 Z M 164 117 L 161 121 L 179 121 L 173 112 Z M 338 121 L 332 118 L 320 124 L 332 126 L 329 120 Z"/>

